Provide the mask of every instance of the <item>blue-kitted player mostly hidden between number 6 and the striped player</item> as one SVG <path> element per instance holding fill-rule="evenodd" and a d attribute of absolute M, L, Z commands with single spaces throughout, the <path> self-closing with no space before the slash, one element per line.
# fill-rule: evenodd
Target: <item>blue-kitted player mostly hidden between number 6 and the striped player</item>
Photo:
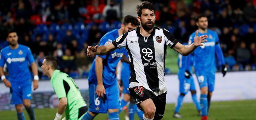
<path fill-rule="evenodd" d="M 124 56 L 128 58 L 128 53 L 124 52 Z M 137 113 L 138 117 L 142 120 L 143 112 L 137 108 L 136 102 L 131 99 L 130 92 L 127 88 L 129 88 L 129 78 L 131 76 L 130 64 L 126 62 L 122 62 L 121 69 L 121 80 L 123 83 L 123 99 L 121 100 L 121 108 L 123 108 L 129 101 L 128 107 L 128 115 L 130 120 L 134 120 L 134 114 Z M 119 113 L 121 110 L 119 111 Z"/>

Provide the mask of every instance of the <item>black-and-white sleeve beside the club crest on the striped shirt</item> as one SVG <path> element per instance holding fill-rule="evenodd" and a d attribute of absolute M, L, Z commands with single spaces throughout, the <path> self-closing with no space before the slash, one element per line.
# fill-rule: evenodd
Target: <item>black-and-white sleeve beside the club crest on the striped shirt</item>
<path fill-rule="evenodd" d="M 163 33 L 164 33 L 164 36 L 165 36 L 166 45 L 173 48 L 178 43 L 178 40 L 176 38 L 174 38 L 173 34 L 171 34 L 166 29 L 163 29 Z"/>

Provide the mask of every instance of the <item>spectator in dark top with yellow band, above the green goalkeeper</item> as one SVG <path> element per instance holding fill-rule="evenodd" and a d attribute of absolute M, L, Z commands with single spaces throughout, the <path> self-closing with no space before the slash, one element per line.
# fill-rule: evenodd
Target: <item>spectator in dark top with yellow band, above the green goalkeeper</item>
<path fill-rule="evenodd" d="M 62 56 L 62 66 L 65 73 L 73 72 L 76 70 L 75 57 L 71 55 L 69 49 L 65 50 L 65 55 Z"/>

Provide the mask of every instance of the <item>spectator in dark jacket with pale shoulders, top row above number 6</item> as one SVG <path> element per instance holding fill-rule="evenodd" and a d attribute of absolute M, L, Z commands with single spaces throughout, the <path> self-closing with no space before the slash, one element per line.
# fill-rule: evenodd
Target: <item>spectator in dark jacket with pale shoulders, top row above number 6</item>
<path fill-rule="evenodd" d="M 115 5 L 115 0 L 110 0 L 109 5 L 104 8 L 102 14 L 108 22 L 113 22 L 120 18 L 120 11 L 118 6 Z"/>

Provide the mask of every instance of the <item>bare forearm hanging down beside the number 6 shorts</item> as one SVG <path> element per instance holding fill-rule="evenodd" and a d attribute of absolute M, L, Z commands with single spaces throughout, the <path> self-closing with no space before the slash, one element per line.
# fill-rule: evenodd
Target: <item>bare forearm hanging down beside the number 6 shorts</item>
<path fill-rule="evenodd" d="M 102 60 L 100 59 L 95 59 L 95 72 L 96 72 L 96 77 L 97 77 L 97 82 L 98 84 L 103 84 L 102 80 L 102 69 L 103 69 L 103 64 Z"/>

